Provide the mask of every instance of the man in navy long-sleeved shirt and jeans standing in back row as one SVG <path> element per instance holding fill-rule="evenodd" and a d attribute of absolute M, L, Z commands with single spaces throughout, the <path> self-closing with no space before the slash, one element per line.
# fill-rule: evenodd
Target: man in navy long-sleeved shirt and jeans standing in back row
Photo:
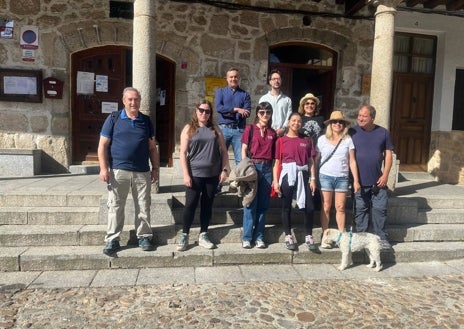
<path fill-rule="evenodd" d="M 214 106 L 218 111 L 218 124 L 224 135 L 226 147 L 230 144 L 234 150 L 235 163 L 242 160 L 242 134 L 246 118 L 250 116 L 251 98 L 239 87 L 240 73 L 231 68 L 226 75 L 227 86 L 216 90 Z"/>

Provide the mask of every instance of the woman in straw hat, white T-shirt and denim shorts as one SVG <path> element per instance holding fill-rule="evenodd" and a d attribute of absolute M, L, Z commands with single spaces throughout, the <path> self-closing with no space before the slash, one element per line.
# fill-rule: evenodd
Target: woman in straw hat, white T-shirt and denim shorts
<path fill-rule="evenodd" d="M 319 182 L 322 195 L 321 227 L 323 231 L 321 248 L 330 249 L 327 241 L 332 197 L 335 194 L 335 220 L 340 232 L 345 230 L 346 194 L 349 189 L 349 173 L 353 176 L 354 191 L 361 186 L 358 179 L 354 144 L 348 135 L 350 122 L 341 111 L 333 111 L 330 119 L 324 122 L 325 135 L 319 137 L 316 146 L 316 160 L 319 163 Z"/>

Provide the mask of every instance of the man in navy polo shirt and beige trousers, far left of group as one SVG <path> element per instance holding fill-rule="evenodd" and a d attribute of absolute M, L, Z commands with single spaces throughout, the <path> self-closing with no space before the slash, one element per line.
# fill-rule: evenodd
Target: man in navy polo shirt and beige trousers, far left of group
<path fill-rule="evenodd" d="M 100 133 L 100 179 L 108 184 L 108 228 L 105 255 L 120 249 L 124 208 L 129 190 L 134 199 L 135 228 L 142 250 L 153 250 L 150 225 L 151 183 L 158 180 L 159 159 L 150 117 L 139 112 L 141 96 L 125 88 L 124 108 L 106 118 Z M 151 171 L 150 165 L 151 162 Z"/>

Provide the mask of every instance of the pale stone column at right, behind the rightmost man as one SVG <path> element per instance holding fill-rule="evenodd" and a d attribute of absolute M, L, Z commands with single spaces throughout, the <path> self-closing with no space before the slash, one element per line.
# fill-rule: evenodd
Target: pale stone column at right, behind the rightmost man
<path fill-rule="evenodd" d="M 400 1 L 371 1 L 375 12 L 374 51 L 370 103 L 377 110 L 375 122 L 390 128 L 390 104 L 393 88 L 393 42 L 395 35 L 396 4 Z"/>

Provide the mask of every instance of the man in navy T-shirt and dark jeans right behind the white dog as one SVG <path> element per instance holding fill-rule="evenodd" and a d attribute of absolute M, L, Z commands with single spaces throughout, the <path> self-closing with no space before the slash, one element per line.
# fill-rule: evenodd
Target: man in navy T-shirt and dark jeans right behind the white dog
<path fill-rule="evenodd" d="M 381 239 L 382 249 L 391 245 L 385 233 L 388 206 L 388 175 L 393 161 L 393 144 L 387 129 L 374 123 L 376 110 L 363 105 L 358 124 L 350 129 L 361 189 L 354 193 L 356 231 L 372 231 Z"/>

